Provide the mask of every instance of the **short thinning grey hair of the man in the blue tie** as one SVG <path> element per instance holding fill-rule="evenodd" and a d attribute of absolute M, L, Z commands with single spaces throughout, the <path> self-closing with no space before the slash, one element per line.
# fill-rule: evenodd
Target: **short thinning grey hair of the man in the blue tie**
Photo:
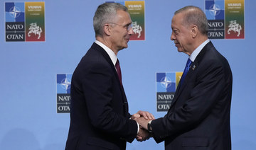
<path fill-rule="evenodd" d="M 183 25 L 196 25 L 198 26 L 198 30 L 203 35 L 207 35 L 208 21 L 206 18 L 206 14 L 203 13 L 201 8 L 197 6 L 185 6 L 178 9 L 178 11 L 174 13 L 174 15 L 181 12 L 184 13 Z"/>

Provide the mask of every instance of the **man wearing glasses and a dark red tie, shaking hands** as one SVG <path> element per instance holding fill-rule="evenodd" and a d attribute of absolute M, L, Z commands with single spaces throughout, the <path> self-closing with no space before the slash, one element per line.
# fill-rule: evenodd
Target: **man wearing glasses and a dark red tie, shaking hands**
<path fill-rule="evenodd" d="M 127 48 L 134 34 L 127 8 L 121 4 L 98 6 L 93 18 L 96 41 L 76 67 L 71 83 L 70 129 L 66 150 L 126 149 L 126 142 L 149 137 L 134 117 L 150 113 L 128 112 L 117 52 Z"/>

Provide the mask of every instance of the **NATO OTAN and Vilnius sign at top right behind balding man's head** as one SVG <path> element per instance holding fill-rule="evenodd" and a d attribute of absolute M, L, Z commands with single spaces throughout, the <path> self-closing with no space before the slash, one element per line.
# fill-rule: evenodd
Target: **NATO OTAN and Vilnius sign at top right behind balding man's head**
<path fill-rule="evenodd" d="M 244 0 L 206 0 L 209 39 L 245 38 Z"/>

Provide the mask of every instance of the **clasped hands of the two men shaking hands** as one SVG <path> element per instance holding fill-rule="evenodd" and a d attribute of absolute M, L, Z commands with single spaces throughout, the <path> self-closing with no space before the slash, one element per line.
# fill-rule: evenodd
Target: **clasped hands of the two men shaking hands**
<path fill-rule="evenodd" d="M 132 115 L 132 120 L 135 120 L 139 124 L 139 132 L 137 134 L 137 141 L 143 142 L 152 137 L 152 133 L 149 132 L 148 123 L 150 120 L 154 120 L 154 115 L 149 112 L 139 110 Z"/>

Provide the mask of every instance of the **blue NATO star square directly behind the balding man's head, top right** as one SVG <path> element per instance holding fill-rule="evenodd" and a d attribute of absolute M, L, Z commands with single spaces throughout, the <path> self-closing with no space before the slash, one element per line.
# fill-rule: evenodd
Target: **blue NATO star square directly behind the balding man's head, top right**
<path fill-rule="evenodd" d="M 206 0 L 206 17 L 208 20 L 224 20 L 224 0 Z"/>

